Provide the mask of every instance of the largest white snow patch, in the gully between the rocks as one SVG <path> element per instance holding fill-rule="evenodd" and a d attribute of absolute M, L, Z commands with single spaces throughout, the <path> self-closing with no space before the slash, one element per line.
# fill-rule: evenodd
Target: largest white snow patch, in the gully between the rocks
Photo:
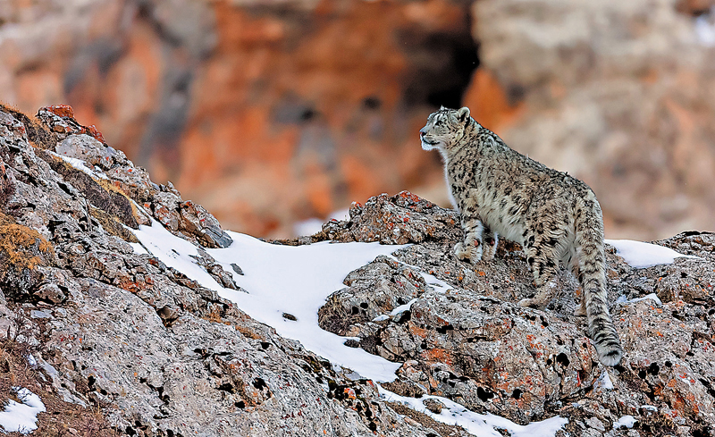
<path fill-rule="evenodd" d="M 349 348 L 346 338 L 324 331 L 317 324 L 317 312 L 325 299 L 345 286 L 342 281 L 353 270 L 389 255 L 404 246 L 379 243 L 342 243 L 329 241 L 307 246 L 282 246 L 266 243 L 248 235 L 228 232 L 233 239 L 229 248 L 207 249 L 233 280 L 248 293 L 224 289 L 206 271 L 194 263 L 197 249 L 189 241 L 174 236 L 160 223 L 139 226 L 134 234 L 154 256 L 202 286 L 216 290 L 222 298 L 236 303 L 257 321 L 272 326 L 283 337 L 299 340 L 303 346 L 328 359 L 349 367 L 363 377 L 378 382 L 393 381 L 400 363 Z M 231 263 L 240 265 L 243 275 L 235 273 Z M 282 315 L 288 313 L 297 320 Z"/>

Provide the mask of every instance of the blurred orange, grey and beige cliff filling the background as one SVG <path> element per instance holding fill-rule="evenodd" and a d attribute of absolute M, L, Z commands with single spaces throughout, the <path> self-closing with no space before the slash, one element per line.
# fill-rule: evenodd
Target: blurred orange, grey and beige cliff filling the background
<path fill-rule="evenodd" d="M 711 0 L 0 0 L 0 100 L 72 105 L 224 228 L 381 192 L 448 206 L 417 131 L 468 105 L 595 190 L 607 236 L 715 230 Z"/>

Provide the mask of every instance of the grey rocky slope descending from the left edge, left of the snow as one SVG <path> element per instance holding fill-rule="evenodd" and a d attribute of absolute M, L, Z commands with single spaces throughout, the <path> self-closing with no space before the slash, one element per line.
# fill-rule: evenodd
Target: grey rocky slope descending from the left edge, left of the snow
<path fill-rule="evenodd" d="M 167 229 L 220 246 L 228 237 L 217 227 L 206 240 L 203 223 L 217 222 L 203 208 L 85 134 L 33 146 L 13 114 L 0 108 L 0 320 L 9 327 L 4 344 L 26 345 L 13 350 L 34 363 L 26 383 L 43 398 L 54 393 L 50 414 L 68 403 L 103 408 L 122 435 L 428 434 L 384 407 L 373 383 L 335 374 L 214 291 L 137 255 L 130 232 L 113 231 L 176 212 L 178 225 Z M 67 164 L 72 158 L 84 171 Z M 115 209 L 120 197 L 129 209 Z M 199 264 L 230 281 L 212 261 L 206 254 Z M 48 420 L 38 433 L 48 432 Z"/>

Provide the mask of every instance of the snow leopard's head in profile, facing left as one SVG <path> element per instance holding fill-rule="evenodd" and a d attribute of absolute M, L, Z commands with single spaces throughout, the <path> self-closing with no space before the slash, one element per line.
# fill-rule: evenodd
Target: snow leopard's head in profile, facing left
<path fill-rule="evenodd" d="M 439 111 L 427 117 L 427 124 L 419 130 L 422 148 L 446 152 L 454 145 L 456 139 L 461 138 L 471 120 L 467 106 L 461 109 L 448 109 L 442 106 Z"/>

